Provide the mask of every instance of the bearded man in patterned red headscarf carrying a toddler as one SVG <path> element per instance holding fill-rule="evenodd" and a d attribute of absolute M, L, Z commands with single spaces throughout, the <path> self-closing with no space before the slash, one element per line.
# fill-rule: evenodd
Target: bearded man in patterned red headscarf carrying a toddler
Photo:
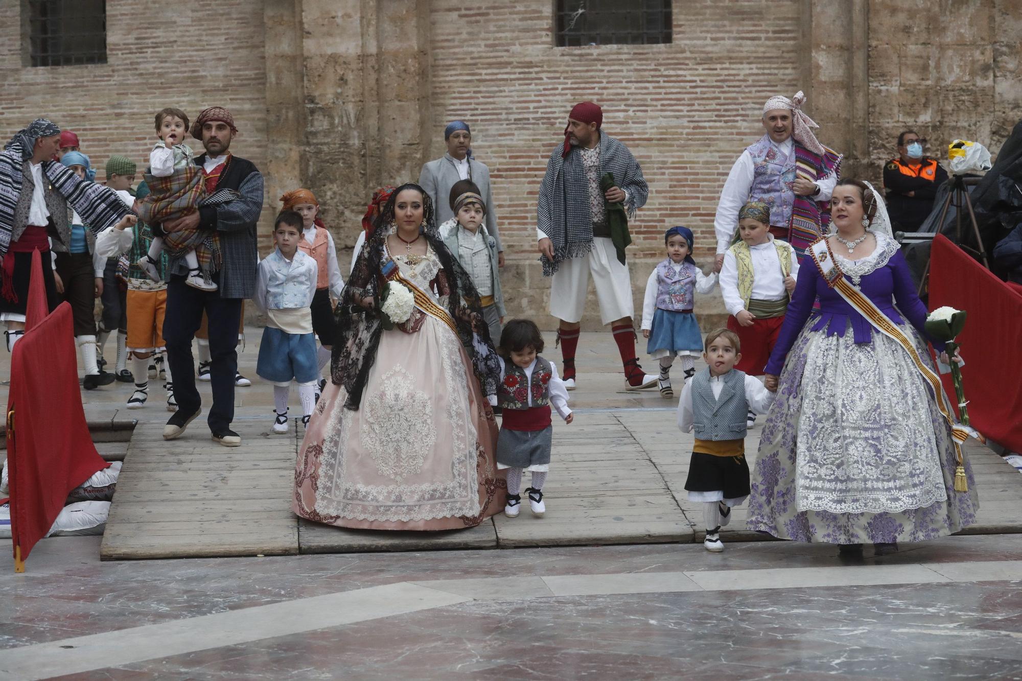
<path fill-rule="evenodd" d="M 188 266 L 183 258 L 171 258 L 168 262 L 164 340 L 167 343 L 167 362 L 174 375 L 178 411 L 164 427 L 164 439 L 181 437 L 201 411 L 191 346 L 205 312 L 213 383 L 213 407 L 206 422 L 216 442 L 225 447 L 238 447 L 241 437 L 230 428 L 234 420 L 234 388 L 246 384 L 239 380 L 247 381 L 238 373 L 238 327 L 242 303 L 256 291 L 259 260 L 256 223 L 263 211 L 263 175 L 250 161 L 228 151 L 238 129 L 234 126 L 234 117 L 226 108 L 202 109 L 189 132 L 205 147 L 205 153 L 195 156 L 194 163 L 202 171 L 206 193 L 214 195 L 230 190 L 234 195 L 216 205 L 203 203 L 197 211 L 162 224 L 166 232 L 216 230 L 222 260 L 215 275 L 217 290 L 213 291 L 185 283 Z"/>

